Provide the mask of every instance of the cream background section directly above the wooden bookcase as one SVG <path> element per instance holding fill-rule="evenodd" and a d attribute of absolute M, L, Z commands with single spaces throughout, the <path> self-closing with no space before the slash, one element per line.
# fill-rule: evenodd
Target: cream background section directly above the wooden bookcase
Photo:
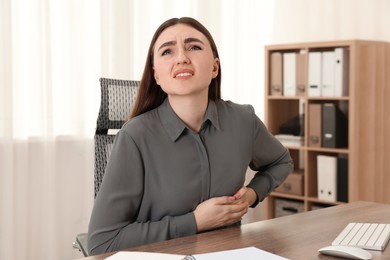
<path fill-rule="evenodd" d="M 275 0 L 273 43 L 390 41 L 389 0 Z"/>

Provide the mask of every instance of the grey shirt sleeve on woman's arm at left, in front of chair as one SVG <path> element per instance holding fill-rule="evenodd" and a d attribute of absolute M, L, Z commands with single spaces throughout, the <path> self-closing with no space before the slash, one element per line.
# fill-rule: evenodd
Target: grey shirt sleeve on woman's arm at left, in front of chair
<path fill-rule="evenodd" d="M 120 131 L 96 197 L 88 230 L 91 255 L 196 233 L 193 213 L 138 220 L 143 199 L 142 157 L 132 138 Z"/>

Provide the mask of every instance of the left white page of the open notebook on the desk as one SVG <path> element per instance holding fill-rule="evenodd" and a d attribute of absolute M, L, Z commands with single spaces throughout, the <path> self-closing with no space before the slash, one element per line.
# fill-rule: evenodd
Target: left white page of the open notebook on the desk
<path fill-rule="evenodd" d="M 182 260 L 183 258 L 184 258 L 183 255 L 121 251 L 105 259 L 107 260 Z"/>

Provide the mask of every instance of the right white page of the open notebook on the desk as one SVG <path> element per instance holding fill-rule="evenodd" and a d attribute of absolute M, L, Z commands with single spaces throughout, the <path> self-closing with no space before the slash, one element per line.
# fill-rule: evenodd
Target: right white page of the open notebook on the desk
<path fill-rule="evenodd" d="M 218 251 L 213 253 L 196 254 L 196 260 L 237 260 L 237 259 L 261 259 L 261 260 L 287 260 L 287 258 L 272 254 L 256 247 Z"/>

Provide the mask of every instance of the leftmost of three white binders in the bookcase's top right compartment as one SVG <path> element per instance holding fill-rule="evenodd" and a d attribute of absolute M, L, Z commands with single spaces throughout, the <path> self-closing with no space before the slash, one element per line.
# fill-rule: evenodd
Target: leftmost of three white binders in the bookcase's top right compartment
<path fill-rule="evenodd" d="M 321 52 L 309 52 L 309 88 L 308 96 L 321 96 Z"/>

